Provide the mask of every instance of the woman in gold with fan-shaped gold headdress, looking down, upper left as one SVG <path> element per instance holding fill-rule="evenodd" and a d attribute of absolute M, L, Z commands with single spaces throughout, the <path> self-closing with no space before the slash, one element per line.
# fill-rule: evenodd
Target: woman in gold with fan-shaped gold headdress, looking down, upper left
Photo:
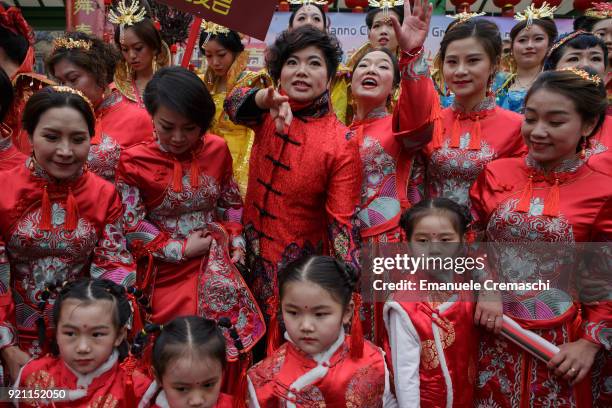
<path fill-rule="evenodd" d="M 129 4 L 126 5 L 126 4 Z M 145 110 L 143 94 L 158 69 L 171 65 L 172 55 L 159 33 L 159 22 L 150 18 L 139 0 L 121 0 L 108 19 L 116 24 L 115 45 L 121 60 L 115 70 L 115 87 L 125 98 Z"/>

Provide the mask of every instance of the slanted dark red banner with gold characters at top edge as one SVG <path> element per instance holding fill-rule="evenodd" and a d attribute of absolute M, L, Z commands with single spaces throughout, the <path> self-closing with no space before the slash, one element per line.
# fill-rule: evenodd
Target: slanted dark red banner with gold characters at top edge
<path fill-rule="evenodd" d="M 277 0 L 159 0 L 159 2 L 261 40 L 266 37 L 278 3 Z"/>

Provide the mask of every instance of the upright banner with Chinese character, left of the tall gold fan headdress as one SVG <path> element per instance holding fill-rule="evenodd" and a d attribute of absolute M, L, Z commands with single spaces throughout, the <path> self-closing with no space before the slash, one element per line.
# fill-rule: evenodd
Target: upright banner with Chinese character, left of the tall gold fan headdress
<path fill-rule="evenodd" d="M 102 38 L 104 19 L 104 0 L 66 0 L 66 31 Z"/>

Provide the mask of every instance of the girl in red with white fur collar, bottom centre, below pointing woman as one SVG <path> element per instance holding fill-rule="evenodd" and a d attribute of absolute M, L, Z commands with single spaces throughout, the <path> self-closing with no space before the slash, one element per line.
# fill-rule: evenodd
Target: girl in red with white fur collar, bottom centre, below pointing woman
<path fill-rule="evenodd" d="M 384 353 L 361 333 L 358 281 L 330 256 L 307 256 L 281 271 L 287 342 L 248 371 L 249 406 L 394 404 Z"/>

